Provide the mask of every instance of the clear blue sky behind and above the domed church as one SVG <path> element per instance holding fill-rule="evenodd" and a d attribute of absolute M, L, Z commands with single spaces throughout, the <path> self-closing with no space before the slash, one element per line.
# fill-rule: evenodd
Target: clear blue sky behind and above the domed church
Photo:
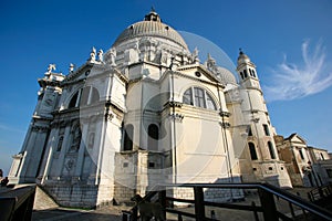
<path fill-rule="evenodd" d="M 332 151 L 332 2 L 329 0 L 127 0 L 0 2 L 0 168 L 8 173 L 28 129 L 50 63 L 68 73 L 92 46 L 107 51 L 154 6 L 163 21 L 204 36 L 236 62 L 257 65 L 278 134 L 298 133 Z M 218 62 L 218 61 L 217 61 Z"/>

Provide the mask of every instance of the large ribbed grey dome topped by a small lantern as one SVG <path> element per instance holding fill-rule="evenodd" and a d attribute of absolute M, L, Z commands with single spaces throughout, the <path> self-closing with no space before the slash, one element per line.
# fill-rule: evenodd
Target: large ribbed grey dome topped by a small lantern
<path fill-rule="evenodd" d="M 115 40 L 113 46 L 137 36 L 159 36 L 170 40 L 179 46 L 188 50 L 188 46 L 181 35 L 169 25 L 163 23 L 155 11 L 151 11 L 146 14 L 144 21 L 136 22 L 126 28 Z"/>

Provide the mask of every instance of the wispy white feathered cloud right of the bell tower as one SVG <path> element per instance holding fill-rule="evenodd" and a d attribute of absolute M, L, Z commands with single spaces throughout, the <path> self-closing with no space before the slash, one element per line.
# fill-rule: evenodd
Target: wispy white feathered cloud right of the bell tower
<path fill-rule="evenodd" d="M 295 99 L 324 91 L 332 85 L 332 71 L 325 66 L 325 49 L 320 41 L 312 51 L 310 41 L 302 43 L 303 64 L 289 63 L 287 55 L 272 69 L 271 85 L 264 87 L 268 101 Z"/>

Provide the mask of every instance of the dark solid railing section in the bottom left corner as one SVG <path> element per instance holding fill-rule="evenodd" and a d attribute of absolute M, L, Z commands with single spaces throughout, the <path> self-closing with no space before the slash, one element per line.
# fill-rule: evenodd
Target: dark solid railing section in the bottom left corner
<path fill-rule="evenodd" d="M 35 185 L 0 189 L 0 220 L 28 221 L 32 217 Z"/>

